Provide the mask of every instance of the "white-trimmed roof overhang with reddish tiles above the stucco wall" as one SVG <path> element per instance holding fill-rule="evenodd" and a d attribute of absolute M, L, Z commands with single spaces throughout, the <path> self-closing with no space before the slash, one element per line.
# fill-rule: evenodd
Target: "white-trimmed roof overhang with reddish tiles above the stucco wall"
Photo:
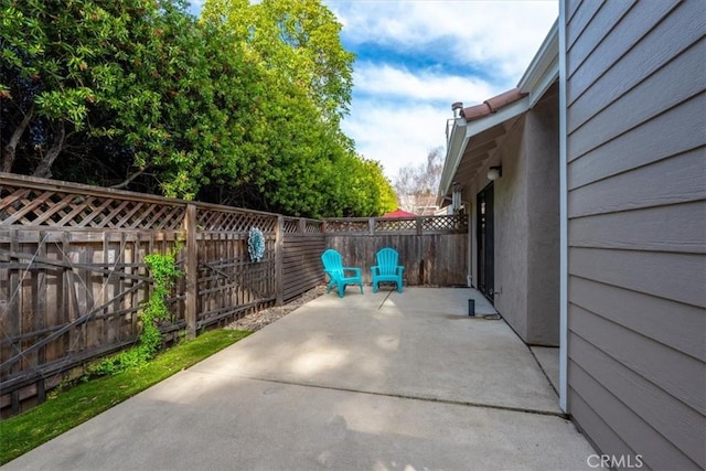
<path fill-rule="evenodd" d="M 453 191 L 462 189 L 500 148 L 514 122 L 531 109 L 559 77 L 558 20 L 520 79 L 523 98 L 495 113 L 467 121 L 452 122 L 441 173 L 437 205 L 448 205 Z"/>

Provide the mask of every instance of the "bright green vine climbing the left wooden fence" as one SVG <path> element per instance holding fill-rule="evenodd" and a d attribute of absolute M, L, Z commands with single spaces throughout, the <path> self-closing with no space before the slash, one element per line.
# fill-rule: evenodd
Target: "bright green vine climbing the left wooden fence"
<path fill-rule="evenodd" d="M 150 269 L 154 287 L 140 313 L 142 332 L 139 343 L 116 355 L 103 358 L 97 365 L 88 368 L 89 376 L 113 375 L 128 368 L 140 368 L 150 361 L 162 346 L 162 333 L 158 323 L 171 317 L 167 306 L 167 297 L 174 287 L 182 271 L 176 268 L 176 254 L 181 245 L 176 245 L 167 254 L 150 254 L 145 263 Z"/>

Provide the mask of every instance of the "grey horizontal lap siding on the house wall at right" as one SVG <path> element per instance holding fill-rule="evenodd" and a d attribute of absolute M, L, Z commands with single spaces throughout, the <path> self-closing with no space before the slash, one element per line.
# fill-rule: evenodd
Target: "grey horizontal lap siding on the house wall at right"
<path fill-rule="evenodd" d="M 568 411 L 602 453 L 704 469 L 704 3 L 563 11 Z"/>

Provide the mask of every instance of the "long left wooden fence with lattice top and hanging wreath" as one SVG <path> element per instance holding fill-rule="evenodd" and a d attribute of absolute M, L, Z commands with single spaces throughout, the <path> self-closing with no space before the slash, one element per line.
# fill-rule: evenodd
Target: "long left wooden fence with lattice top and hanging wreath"
<path fill-rule="evenodd" d="M 252 227 L 265 236 L 259 263 L 248 254 Z M 184 277 L 161 325 L 168 339 L 293 299 L 324 279 L 320 222 L 0 173 L 2 416 L 135 343 L 151 283 L 143 258 L 175 246 Z"/>

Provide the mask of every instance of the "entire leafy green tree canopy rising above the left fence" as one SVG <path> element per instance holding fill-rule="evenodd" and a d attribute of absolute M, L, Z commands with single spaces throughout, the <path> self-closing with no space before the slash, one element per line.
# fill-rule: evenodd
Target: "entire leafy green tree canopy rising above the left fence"
<path fill-rule="evenodd" d="M 318 0 L 0 0 L 0 170 L 295 215 L 392 192 L 339 128 L 353 55 Z M 394 204 L 393 204 L 394 206 Z"/>

